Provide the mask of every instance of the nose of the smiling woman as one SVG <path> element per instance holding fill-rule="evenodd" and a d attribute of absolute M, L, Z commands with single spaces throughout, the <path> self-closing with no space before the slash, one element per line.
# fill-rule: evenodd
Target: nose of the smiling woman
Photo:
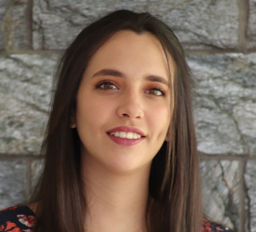
<path fill-rule="evenodd" d="M 119 105 L 117 108 L 117 115 L 119 117 L 129 117 L 130 119 L 142 119 L 144 111 L 142 109 L 142 101 L 138 94 L 129 92 L 120 96 Z"/>

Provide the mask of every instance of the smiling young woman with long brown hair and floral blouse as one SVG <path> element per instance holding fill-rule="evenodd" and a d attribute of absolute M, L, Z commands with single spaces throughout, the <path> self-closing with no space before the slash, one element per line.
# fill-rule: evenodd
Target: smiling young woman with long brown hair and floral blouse
<path fill-rule="evenodd" d="M 229 231 L 202 221 L 193 80 L 164 22 L 111 12 L 81 31 L 56 77 L 43 175 L 24 206 L 0 213 L 0 231 Z"/>

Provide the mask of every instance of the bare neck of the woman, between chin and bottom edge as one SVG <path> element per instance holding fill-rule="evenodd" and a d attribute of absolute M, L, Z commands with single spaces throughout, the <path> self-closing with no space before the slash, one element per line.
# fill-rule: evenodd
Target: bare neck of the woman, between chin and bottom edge
<path fill-rule="evenodd" d="M 145 216 L 150 166 L 151 163 L 120 174 L 90 156 L 82 156 L 88 205 L 87 231 L 147 231 Z"/>

